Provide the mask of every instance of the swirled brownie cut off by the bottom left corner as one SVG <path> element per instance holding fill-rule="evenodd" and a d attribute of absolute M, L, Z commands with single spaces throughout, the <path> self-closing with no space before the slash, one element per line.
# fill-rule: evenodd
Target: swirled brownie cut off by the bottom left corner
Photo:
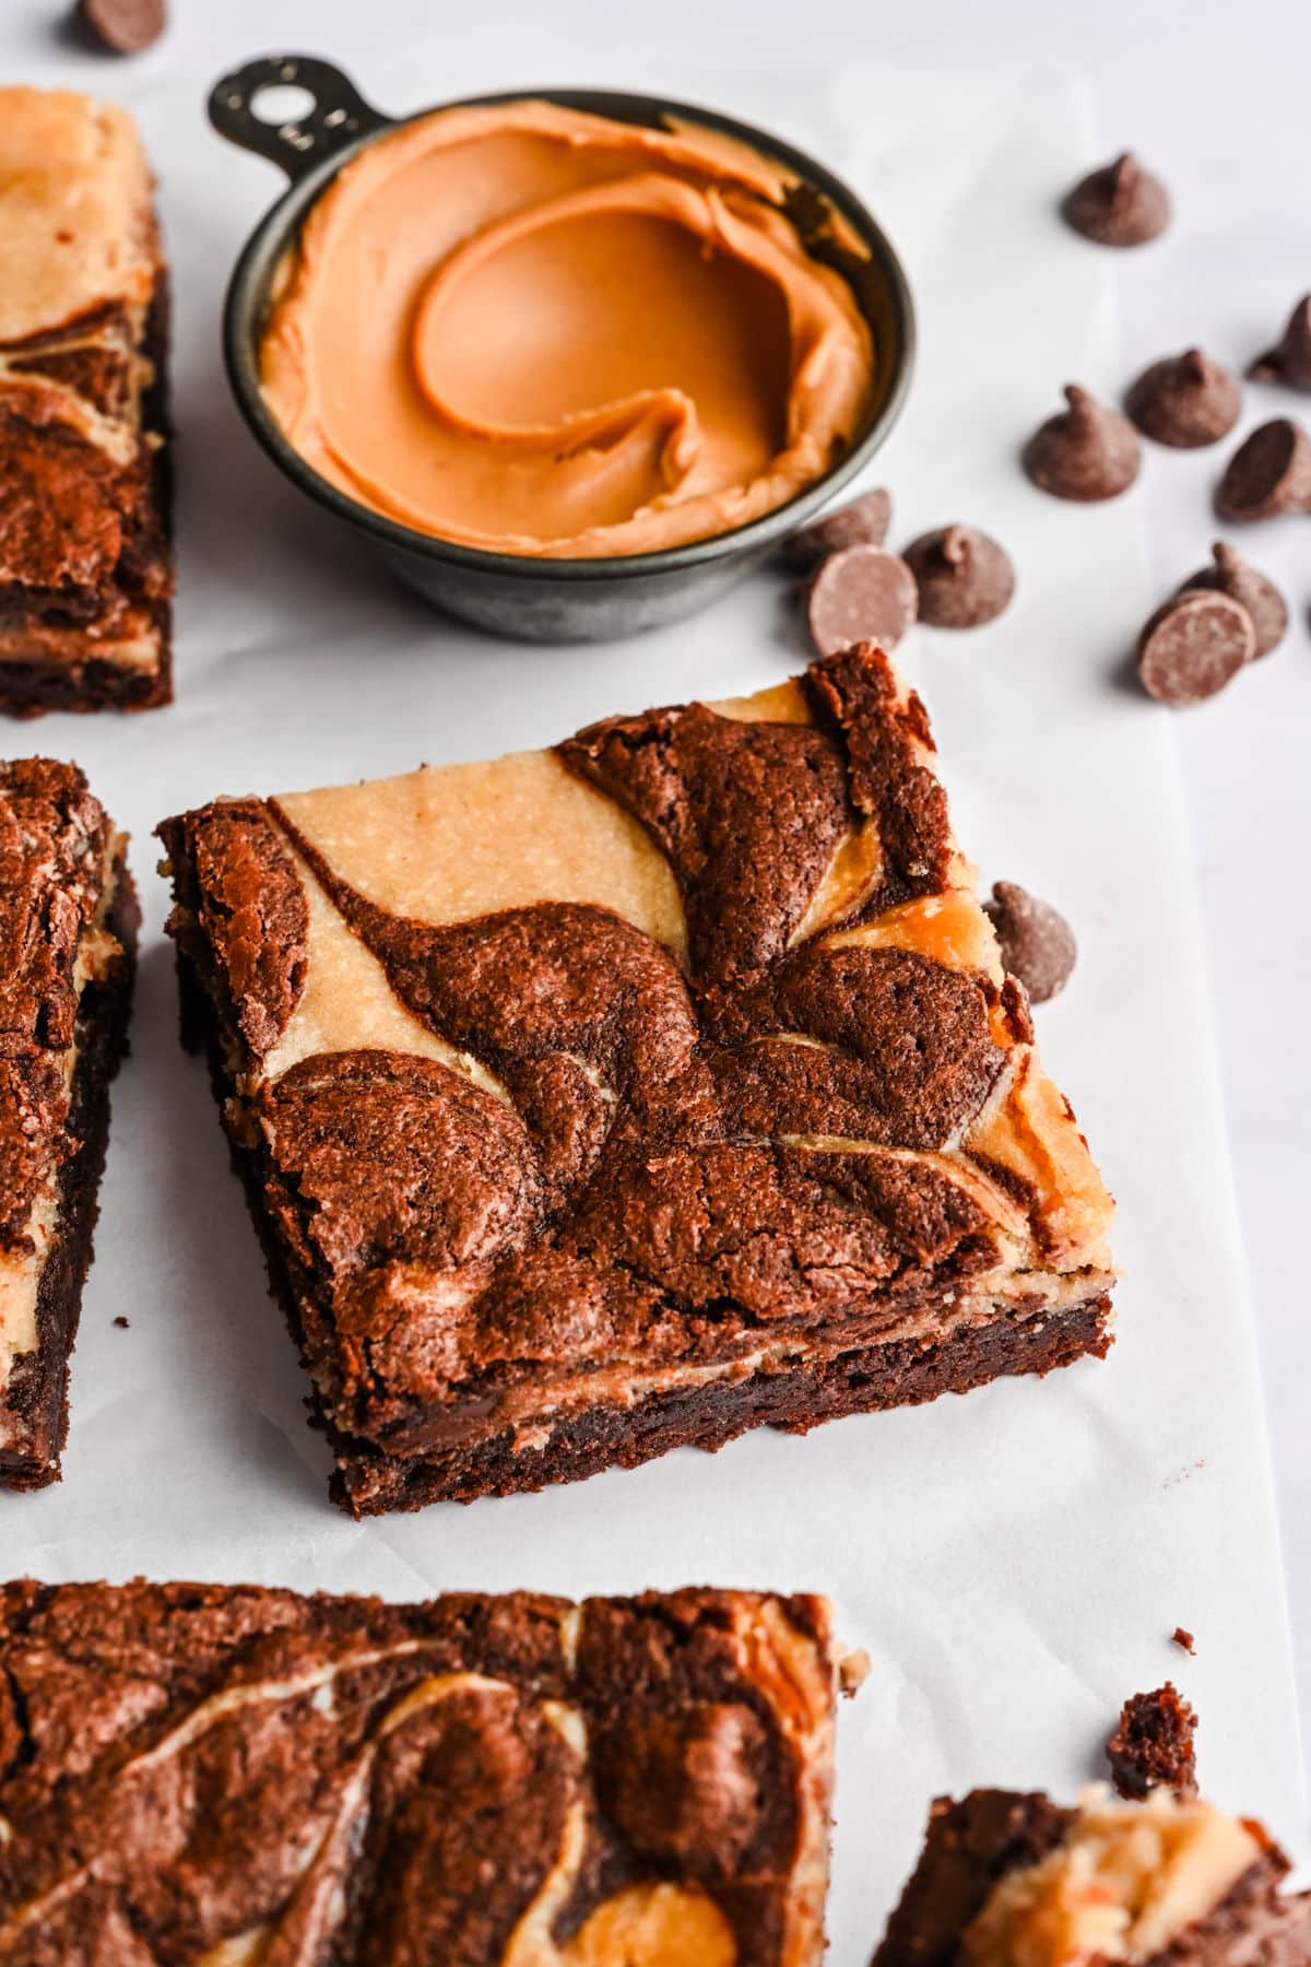
<path fill-rule="evenodd" d="M 820 1959 L 810 1597 L 0 1585 L 0 1957 Z"/>

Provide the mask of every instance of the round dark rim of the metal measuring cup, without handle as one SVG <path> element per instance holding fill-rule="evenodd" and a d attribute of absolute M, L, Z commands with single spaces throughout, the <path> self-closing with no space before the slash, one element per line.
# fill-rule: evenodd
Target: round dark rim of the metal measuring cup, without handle
<path fill-rule="evenodd" d="M 702 124 L 702 128 L 717 134 L 737 138 L 772 161 L 792 169 L 802 183 L 824 193 L 824 197 L 861 236 L 861 242 L 869 246 L 871 256 L 884 279 L 896 323 L 896 348 L 892 352 L 888 386 L 883 403 L 879 405 L 879 411 L 861 441 L 820 478 L 814 478 L 808 486 L 794 492 L 782 506 L 774 506 L 770 511 L 759 513 L 745 525 L 731 527 L 725 533 L 712 533 L 706 539 L 692 539 L 676 547 L 656 547 L 649 553 L 596 555 L 588 559 L 501 553 L 489 547 L 468 547 L 454 539 L 442 539 L 436 533 L 405 525 L 403 521 L 391 519 L 385 513 L 375 511 L 371 506 L 350 498 L 350 494 L 334 486 L 332 480 L 316 472 L 314 466 L 309 464 L 283 435 L 259 387 L 257 330 L 261 325 L 259 311 L 267 295 L 267 283 L 273 277 L 277 260 L 287 246 L 291 246 L 293 234 L 299 230 L 305 214 L 313 205 L 316 205 L 330 181 L 346 163 L 350 163 L 352 157 L 356 157 L 370 144 L 391 136 L 395 130 L 421 122 L 427 116 L 434 116 L 438 110 L 495 108 L 505 102 L 529 100 L 556 102 L 564 108 L 590 110 L 592 114 L 611 116 L 619 122 L 625 120 L 625 110 L 633 112 L 627 120 L 641 118 L 647 124 L 653 120 L 664 122 L 668 118 L 682 118 L 692 124 Z M 263 291 L 256 293 L 256 287 Z M 232 268 L 222 309 L 222 354 L 228 386 L 236 397 L 236 405 L 265 454 L 301 488 L 301 492 L 313 498 L 318 506 L 336 513 L 340 519 L 346 519 L 360 531 L 368 533 L 379 547 L 387 547 L 393 553 L 415 555 L 423 561 L 460 566 L 468 572 L 495 574 L 497 578 L 531 578 L 539 582 L 621 580 L 625 576 L 676 574 L 684 568 L 700 566 L 725 555 L 765 551 L 782 535 L 792 533 L 798 525 L 812 517 L 812 513 L 816 513 L 835 492 L 839 492 L 841 486 L 849 484 L 849 480 L 855 478 L 857 472 L 863 470 L 863 466 L 883 447 L 892 425 L 902 413 L 916 360 L 916 309 L 906 268 L 902 266 L 902 260 L 884 228 L 879 224 L 863 199 L 859 199 L 841 177 L 829 171 L 827 165 L 810 157 L 796 146 L 786 144 L 782 138 L 772 136 L 772 132 L 761 130 L 755 124 L 739 122 L 737 118 L 725 116 L 721 110 L 706 108 L 704 104 L 684 102 L 674 96 L 647 94 L 643 90 L 603 87 L 497 89 L 470 96 L 452 96 L 450 100 L 411 110 L 405 116 L 379 116 L 375 126 L 362 132 L 350 144 L 342 144 L 320 163 L 297 175 L 257 220 Z"/>

